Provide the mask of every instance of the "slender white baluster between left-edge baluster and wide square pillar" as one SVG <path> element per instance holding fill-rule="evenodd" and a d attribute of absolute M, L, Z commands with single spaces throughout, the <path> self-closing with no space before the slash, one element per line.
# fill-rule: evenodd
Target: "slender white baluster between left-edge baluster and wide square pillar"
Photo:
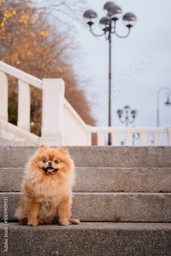
<path fill-rule="evenodd" d="M 30 86 L 22 80 L 18 80 L 17 126 L 30 132 Z"/>

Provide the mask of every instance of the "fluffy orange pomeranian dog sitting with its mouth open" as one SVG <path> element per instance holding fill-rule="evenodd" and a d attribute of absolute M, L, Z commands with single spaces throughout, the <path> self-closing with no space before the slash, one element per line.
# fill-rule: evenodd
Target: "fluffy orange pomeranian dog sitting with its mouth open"
<path fill-rule="evenodd" d="M 15 217 L 21 224 L 78 224 L 71 219 L 74 162 L 65 146 L 41 145 L 26 165 L 23 195 Z"/>

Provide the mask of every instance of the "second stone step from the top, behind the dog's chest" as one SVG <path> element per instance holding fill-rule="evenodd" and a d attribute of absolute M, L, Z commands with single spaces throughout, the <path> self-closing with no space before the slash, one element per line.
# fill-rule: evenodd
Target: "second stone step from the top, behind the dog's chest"
<path fill-rule="evenodd" d="M 76 167 L 75 192 L 171 192 L 171 168 Z M 0 168 L 0 191 L 20 191 L 24 168 Z"/>

